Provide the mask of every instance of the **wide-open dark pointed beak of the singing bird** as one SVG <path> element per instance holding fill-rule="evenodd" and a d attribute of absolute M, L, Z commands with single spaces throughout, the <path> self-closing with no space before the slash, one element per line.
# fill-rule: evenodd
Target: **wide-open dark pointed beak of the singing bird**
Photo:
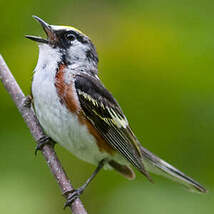
<path fill-rule="evenodd" d="M 36 19 L 41 24 L 43 30 L 45 31 L 45 33 L 47 35 L 47 39 L 43 39 L 38 36 L 30 36 L 30 35 L 25 35 L 25 37 L 28 39 L 31 39 L 33 41 L 36 41 L 36 42 L 53 44 L 57 40 L 57 38 L 56 38 L 56 35 L 55 35 L 51 25 L 49 25 L 48 23 L 46 23 L 44 20 L 42 20 L 41 18 L 39 18 L 37 16 L 33 16 L 33 18 Z"/>

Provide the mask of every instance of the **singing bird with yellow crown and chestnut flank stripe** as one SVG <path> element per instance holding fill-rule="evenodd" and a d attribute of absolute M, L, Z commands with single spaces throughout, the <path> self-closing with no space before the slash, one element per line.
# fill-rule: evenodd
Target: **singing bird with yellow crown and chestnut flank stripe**
<path fill-rule="evenodd" d="M 31 86 L 35 114 L 48 139 L 97 166 L 91 177 L 72 191 L 65 206 L 80 197 L 102 168 L 134 179 L 130 165 L 151 182 L 149 172 L 171 178 L 190 191 L 207 192 L 141 145 L 118 102 L 99 79 L 98 55 L 91 39 L 72 26 L 50 25 L 33 18 L 47 36 L 25 36 L 39 46 Z M 39 140 L 37 150 L 47 138 Z"/>

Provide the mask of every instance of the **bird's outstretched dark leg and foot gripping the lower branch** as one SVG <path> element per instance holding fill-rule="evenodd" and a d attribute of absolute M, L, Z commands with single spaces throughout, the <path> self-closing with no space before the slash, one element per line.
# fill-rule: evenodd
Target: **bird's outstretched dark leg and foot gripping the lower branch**
<path fill-rule="evenodd" d="M 64 209 L 67 206 L 69 206 L 70 204 L 72 204 L 77 198 L 80 197 L 80 195 L 84 192 L 84 190 L 86 189 L 88 184 L 95 178 L 97 173 L 103 168 L 105 161 L 106 161 L 106 159 L 103 159 L 99 162 L 99 164 L 98 164 L 97 168 L 94 170 L 93 174 L 88 178 L 88 180 L 81 187 L 79 187 L 76 190 L 65 192 L 65 195 L 68 195 L 69 193 L 71 193 L 71 195 L 68 196 L 67 201 L 64 205 Z"/>

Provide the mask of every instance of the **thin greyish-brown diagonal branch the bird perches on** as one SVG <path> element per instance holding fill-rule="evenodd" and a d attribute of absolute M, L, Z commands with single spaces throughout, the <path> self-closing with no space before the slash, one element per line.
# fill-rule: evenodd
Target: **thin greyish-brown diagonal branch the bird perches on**
<path fill-rule="evenodd" d="M 30 129 L 32 136 L 34 137 L 35 141 L 41 137 L 44 137 L 45 134 L 42 131 L 41 126 L 35 116 L 33 108 L 26 107 L 24 102 L 26 100 L 25 95 L 23 94 L 22 90 L 20 89 L 19 85 L 17 84 L 16 80 L 14 79 L 13 75 L 11 74 L 9 68 L 7 67 L 3 57 L 0 55 L 0 79 L 11 95 L 13 101 L 15 102 L 18 110 L 20 111 L 22 117 L 24 118 L 27 126 Z M 73 190 L 73 187 L 62 168 L 62 165 L 56 156 L 56 153 L 51 145 L 45 145 L 42 148 L 42 154 L 45 157 L 47 164 L 55 176 L 57 183 L 62 191 L 62 193 L 66 193 Z M 69 196 L 69 195 L 68 195 Z M 70 206 L 73 214 L 87 214 L 86 210 L 80 199 L 76 199 L 74 203 Z"/>

